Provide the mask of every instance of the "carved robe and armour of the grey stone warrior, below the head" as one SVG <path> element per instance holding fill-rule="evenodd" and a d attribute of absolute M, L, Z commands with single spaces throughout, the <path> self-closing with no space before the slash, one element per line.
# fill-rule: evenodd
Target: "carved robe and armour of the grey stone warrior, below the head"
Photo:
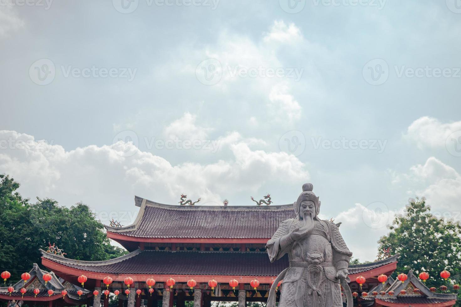
<path fill-rule="evenodd" d="M 290 261 L 278 307 L 343 307 L 340 281 L 335 276 L 337 270 L 348 268 L 352 253 L 333 222 L 314 223 L 306 237 L 291 242 L 289 233 L 304 223 L 285 220 L 267 242 L 271 262 L 285 254 Z"/>

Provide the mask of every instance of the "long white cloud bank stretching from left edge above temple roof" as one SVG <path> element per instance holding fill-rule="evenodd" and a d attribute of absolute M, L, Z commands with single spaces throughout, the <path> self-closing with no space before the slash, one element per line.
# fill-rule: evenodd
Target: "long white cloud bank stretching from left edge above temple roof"
<path fill-rule="evenodd" d="M 306 166 L 285 153 L 253 151 L 251 142 L 238 133 L 227 142 L 231 158 L 200 164 L 171 165 L 163 157 L 139 151 L 123 157 L 124 141 L 115 145 L 89 145 L 65 151 L 33 136 L 0 131 L 0 170 L 21 183 L 26 197 L 53 197 L 62 205 L 78 201 L 98 212 L 116 213 L 128 224 L 136 216 L 134 195 L 166 203 L 176 203 L 180 193 L 201 197 L 201 204 L 219 204 L 225 197 L 250 195 L 260 187 L 277 182 L 292 185 L 308 179 Z M 26 146 L 20 146 L 23 140 Z M 192 193 L 192 194 L 190 194 Z M 235 198 L 234 198 L 235 199 Z M 235 201 L 234 204 L 237 204 Z M 128 213 L 128 214 L 126 214 Z M 121 214 L 125 214 L 121 217 Z M 101 220 L 109 218 L 99 216 Z"/>

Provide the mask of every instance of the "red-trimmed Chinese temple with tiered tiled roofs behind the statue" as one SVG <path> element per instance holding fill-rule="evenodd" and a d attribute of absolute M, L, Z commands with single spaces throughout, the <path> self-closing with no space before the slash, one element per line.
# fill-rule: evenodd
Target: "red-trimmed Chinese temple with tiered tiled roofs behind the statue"
<path fill-rule="evenodd" d="M 119 307 L 184 307 L 186 301 L 193 301 L 194 307 L 209 307 L 212 301 L 236 301 L 245 307 L 248 302 L 266 302 L 273 280 L 289 266 L 286 255 L 271 263 L 266 243 L 282 221 L 295 217 L 292 204 L 185 206 L 135 197 L 135 205 L 140 209 L 132 225 L 106 226 L 107 237 L 127 249 L 127 255 L 80 261 L 41 250 L 42 265 L 59 276 L 60 284 L 80 284 L 84 275 L 82 287 L 89 290 L 93 297 L 89 305 L 94 307 L 108 307 L 104 290 L 118 295 Z M 349 266 L 355 306 L 455 304 L 456 295 L 430 291 L 412 272 L 404 283 L 391 278 L 398 256 Z M 384 284 L 378 281 L 380 276 L 386 277 Z M 366 282 L 359 285 L 359 277 Z M 410 291 L 411 287 L 420 292 Z M 283 282 L 278 295 L 280 290 Z M 378 294 L 372 295 L 375 291 Z M 5 300 L 3 293 L 0 298 Z"/>

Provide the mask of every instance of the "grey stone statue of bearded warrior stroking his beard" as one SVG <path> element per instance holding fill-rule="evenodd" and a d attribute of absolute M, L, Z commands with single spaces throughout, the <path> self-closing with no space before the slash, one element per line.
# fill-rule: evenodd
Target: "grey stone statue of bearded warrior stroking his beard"
<path fill-rule="evenodd" d="M 275 288 L 283 279 L 278 307 L 343 307 L 340 284 L 352 306 L 347 277 L 352 253 L 337 225 L 320 220 L 319 197 L 313 185 L 302 186 L 302 193 L 293 206 L 296 218 L 283 221 L 267 242 L 271 262 L 288 254 L 290 267 L 282 271 L 272 284 L 267 307 L 275 307 Z"/>

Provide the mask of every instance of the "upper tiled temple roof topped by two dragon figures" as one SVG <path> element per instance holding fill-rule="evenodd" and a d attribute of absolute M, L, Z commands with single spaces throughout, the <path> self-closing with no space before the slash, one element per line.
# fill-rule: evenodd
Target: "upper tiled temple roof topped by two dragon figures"
<path fill-rule="evenodd" d="M 264 238 L 280 222 L 295 217 L 293 205 L 179 206 L 135 197 L 141 209 L 130 226 L 105 226 L 107 232 L 134 238 Z M 109 234 L 108 234 L 108 237 Z M 136 239 L 135 239 L 136 240 Z"/>

